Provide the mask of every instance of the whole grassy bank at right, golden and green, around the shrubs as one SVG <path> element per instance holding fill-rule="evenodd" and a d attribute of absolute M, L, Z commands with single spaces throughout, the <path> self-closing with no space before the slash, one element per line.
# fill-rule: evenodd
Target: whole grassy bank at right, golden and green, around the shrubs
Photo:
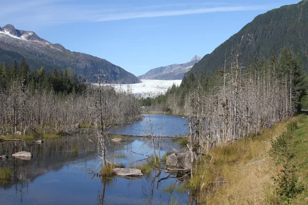
<path fill-rule="evenodd" d="M 299 122 L 297 124 L 294 122 Z M 277 195 L 272 177 L 281 175 L 283 165 L 276 165 L 269 155 L 272 139 L 285 131 L 294 135 L 290 145 L 292 165 L 299 185 L 304 191 L 291 204 L 308 204 L 308 117 L 300 115 L 264 129 L 232 144 L 209 151 L 199 163 L 194 178 L 185 185 L 196 192 L 201 204 L 287 204 Z"/>

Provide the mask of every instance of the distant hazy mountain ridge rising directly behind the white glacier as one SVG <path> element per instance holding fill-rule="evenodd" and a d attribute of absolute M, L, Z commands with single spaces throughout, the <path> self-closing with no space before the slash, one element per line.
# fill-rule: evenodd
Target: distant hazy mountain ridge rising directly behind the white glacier
<path fill-rule="evenodd" d="M 192 66 L 199 62 L 201 57 L 195 55 L 188 63 L 185 64 L 172 64 L 153 68 L 143 75 L 138 76 L 139 79 L 158 79 L 158 80 L 181 80 L 186 72 Z"/>

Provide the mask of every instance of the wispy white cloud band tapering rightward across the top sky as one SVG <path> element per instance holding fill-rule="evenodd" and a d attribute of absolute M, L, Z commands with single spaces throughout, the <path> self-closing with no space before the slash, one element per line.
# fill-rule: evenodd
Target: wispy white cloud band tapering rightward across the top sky
<path fill-rule="evenodd" d="M 20 1 L 19 1 L 20 2 Z M 134 18 L 180 16 L 213 12 L 267 10 L 269 5 L 230 6 L 227 3 L 165 4 L 149 6 L 74 4 L 72 0 L 17 0 L 0 3 L 0 26 L 18 24 L 24 27 L 80 22 L 106 22 Z"/>

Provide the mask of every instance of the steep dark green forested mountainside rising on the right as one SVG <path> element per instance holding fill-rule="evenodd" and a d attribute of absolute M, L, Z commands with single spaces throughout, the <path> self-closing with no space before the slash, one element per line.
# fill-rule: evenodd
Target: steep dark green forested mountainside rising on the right
<path fill-rule="evenodd" d="M 225 53 L 228 57 L 232 47 L 236 48 L 237 44 L 240 46 L 243 65 L 249 58 L 252 63 L 256 55 L 268 58 L 275 52 L 277 56 L 281 49 L 289 46 L 293 53 L 300 53 L 304 69 L 308 71 L 307 0 L 258 15 L 212 53 L 205 55 L 188 73 L 210 74 L 216 68 L 222 68 Z"/>

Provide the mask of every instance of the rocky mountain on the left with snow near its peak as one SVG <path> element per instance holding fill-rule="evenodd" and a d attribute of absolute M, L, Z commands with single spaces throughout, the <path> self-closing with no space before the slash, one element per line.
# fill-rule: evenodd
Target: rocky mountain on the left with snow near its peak
<path fill-rule="evenodd" d="M 141 81 L 123 68 L 109 61 L 80 52 L 71 52 L 60 44 L 52 44 L 37 36 L 33 31 L 15 29 L 13 25 L 0 27 L 0 62 L 12 65 L 14 60 L 25 57 L 30 69 L 41 66 L 47 72 L 54 69 L 63 70 L 71 67 L 83 78 L 90 75 L 106 75 L 105 81 L 112 83 L 133 84 Z M 97 77 L 87 77 L 87 81 L 95 81 Z"/>

